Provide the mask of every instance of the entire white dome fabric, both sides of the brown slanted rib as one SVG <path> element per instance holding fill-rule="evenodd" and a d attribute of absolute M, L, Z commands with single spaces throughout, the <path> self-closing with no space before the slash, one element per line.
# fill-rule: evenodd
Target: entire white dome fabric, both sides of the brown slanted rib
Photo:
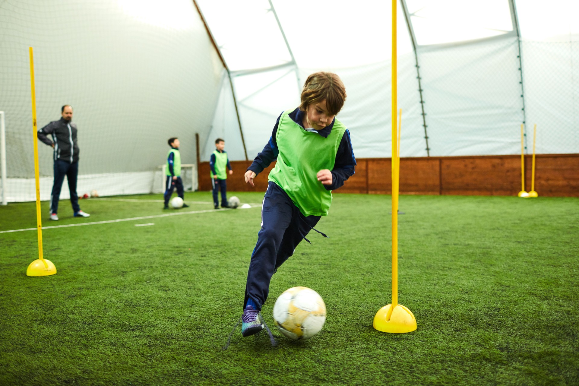
<path fill-rule="evenodd" d="M 577 0 L 397 5 L 402 157 L 518 154 L 523 122 L 527 153 L 534 124 L 538 153 L 579 153 Z M 75 107 L 79 190 L 159 189 L 173 136 L 185 164 L 196 134 L 201 161 L 218 137 L 231 160 L 253 159 L 315 71 L 346 85 L 339 119 L 355 155 L 390 157 L 390 12 L 373 0 L 0 2 L 6 196 L 35 198 L 29 46 L 39 127 Z M 52 149 L 39 158 L 46 199 Z"/>

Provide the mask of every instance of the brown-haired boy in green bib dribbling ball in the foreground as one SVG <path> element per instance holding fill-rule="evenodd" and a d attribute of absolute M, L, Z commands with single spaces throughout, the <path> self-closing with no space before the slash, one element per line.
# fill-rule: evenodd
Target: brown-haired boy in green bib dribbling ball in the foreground
<path fill-rule="evenodd" d="M 281 113 L 269 142 L 245 172 L 245 182 L 254 186 L 256 175 L 277 160 L 267 178 L 261 230 L 247 274 L 243 336 L 264 328 L 260 311 L 272 275 L 293 255 L 300 241 L 309 242 L 307 233 L 321 216 L 328 215 L 332 190 L 354 174 L 356 159 L 350 133 L 335 119 L 345 100 L 346 89 L 338 75 L 310 75 L 299 108 Z"/>

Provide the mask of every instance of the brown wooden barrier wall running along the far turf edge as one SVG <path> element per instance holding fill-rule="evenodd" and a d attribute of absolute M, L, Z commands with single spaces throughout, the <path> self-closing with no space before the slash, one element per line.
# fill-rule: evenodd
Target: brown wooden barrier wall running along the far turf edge
<path fill-rule="evenodd" d="M 358 159 L 356 174 L 335 193 L 391 193 L 391 160 Z M 251 161 L 232 161 L 228 190 L 265 192 L 267 175 L 275 163 L 245 184 Z M 525 189 L 531 189 L 532 157 L 525 156 Z M 199 166 L 199 189 L 211 190 L 209 163 Z M 516 196 L 521 190 L 521 156 L 416 157 L 400 160 L 401 194 L 459 194 Z M 579 154 L 536 156 L 535 190 L 539 196 L 579 197 Z"/>

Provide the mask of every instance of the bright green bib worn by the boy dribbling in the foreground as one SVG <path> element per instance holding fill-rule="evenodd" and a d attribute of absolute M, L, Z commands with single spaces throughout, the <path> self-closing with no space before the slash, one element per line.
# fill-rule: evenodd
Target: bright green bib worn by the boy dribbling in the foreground
<path fill-rule="evenodd" d="M 276 133 L 279 155 L 267 179 L 283 189 L 303 215 L 327 216 L 332 192 L 318 181 L 317 173 L 334 168 L 346 126 L 335 119 L 331 133 L 324 138 L 295 123 L 289 116 L 292 111 L 280 117 Z"/>

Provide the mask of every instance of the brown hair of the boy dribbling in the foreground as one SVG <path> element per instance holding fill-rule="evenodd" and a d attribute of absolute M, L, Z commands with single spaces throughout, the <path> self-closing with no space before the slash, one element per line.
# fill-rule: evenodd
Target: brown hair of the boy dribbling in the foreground
<path fill-rule="evenodd" d="M 307 111 L 307 106 L 323 100 L 332 115 L 339 113 L 346 101 L 346 87 L 333 72 L 315 72 L 307 77 L 299 109 Z"/>

